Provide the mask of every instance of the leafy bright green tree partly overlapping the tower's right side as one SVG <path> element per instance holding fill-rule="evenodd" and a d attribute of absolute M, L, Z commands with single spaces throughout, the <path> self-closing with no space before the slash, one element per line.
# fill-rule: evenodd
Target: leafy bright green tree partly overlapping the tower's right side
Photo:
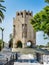
<path fill-rule="evenodd" d="M 32 19 L 31 24 L 35 31 L 44 31 L 49 36 L 49 6 L 43 8 Z"/>

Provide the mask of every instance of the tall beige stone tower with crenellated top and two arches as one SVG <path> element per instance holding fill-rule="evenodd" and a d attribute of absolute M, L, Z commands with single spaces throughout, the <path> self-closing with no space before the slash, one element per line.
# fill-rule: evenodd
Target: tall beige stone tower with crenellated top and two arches
<path fill-rule="evenodd" d="M 13 48 L 17 47 L 18 41 L 22 42 L 23 48 L 30 41 L 33 46 L 36 44 L 36 33 L 30 23 L 32 17 L 30 11 L 24 10 L 16 13 L 16 17 L 13 18 Z"/>

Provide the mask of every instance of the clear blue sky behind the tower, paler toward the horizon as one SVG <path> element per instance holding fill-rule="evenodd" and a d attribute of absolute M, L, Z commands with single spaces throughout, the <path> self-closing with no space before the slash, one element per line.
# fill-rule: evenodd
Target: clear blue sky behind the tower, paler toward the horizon
<path fill-rule="evenodd" d="M 6 6 L 5 19 L 0 23 L 0 27 L 4 28 L 4 41 L 9 41 L 9 34 L 13 32 L 13 17 L 16 11 L 29 10 L 33 11 L 33 15 L 41 11 L 47 4 L 44 0 L 5 0 L 3 5 Z M 43 33 L 38 32 L 36 35 L 37 44 L 44 44 L 48 40 L 43 40 Z M 1 31 L 0 31 L 1 38 Z M 41 42 L 40 42 L 41 41 Z"/>

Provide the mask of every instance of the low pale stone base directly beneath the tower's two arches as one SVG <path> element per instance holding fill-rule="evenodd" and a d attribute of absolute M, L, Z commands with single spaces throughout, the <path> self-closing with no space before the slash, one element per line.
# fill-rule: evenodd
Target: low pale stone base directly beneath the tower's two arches
<path fill-rule="evenodd" d="M 33 48 L 12 48 L 12 52 L 20 52 L 24 54 L 35 54 L 35 49 Z"/>

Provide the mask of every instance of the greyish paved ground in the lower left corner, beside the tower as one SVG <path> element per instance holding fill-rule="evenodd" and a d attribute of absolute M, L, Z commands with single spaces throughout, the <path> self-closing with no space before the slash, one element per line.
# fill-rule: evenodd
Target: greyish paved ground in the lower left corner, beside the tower
<path fill-rule="evenodd" d="M 11 57 L 11 50 L 4 48 L 1 52 L 0 52 L 0 65 L 6 64 L 7 61 L 10 61 L 10 57 Z"/>

